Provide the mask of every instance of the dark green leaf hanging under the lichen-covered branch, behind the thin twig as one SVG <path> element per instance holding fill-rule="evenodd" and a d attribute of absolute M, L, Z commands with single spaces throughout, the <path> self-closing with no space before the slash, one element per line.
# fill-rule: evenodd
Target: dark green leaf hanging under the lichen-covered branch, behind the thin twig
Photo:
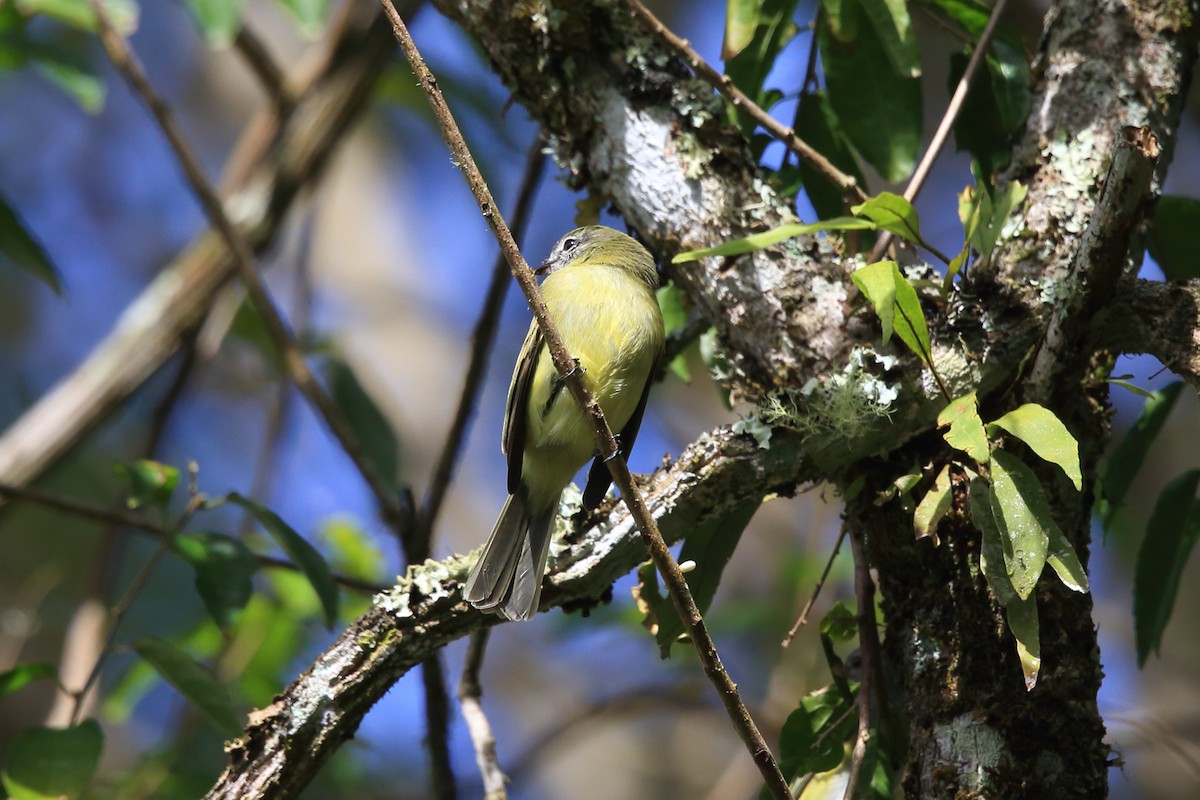
<path fill-rule="evenodd" d="M 737 509 L 726 511 L 719 516 L 704 521 L 688 534 L 679 551 L 679 563 L 695 561 L 695 569 L 684 575 L 688 579 L 688 588 L 696 601 L 696 607 L 703 614 L 713 602 L 716 587 L 721 582 L 721 573 L 725 565 L 730 563 L 734 548 L 742 540 L 750 519 L 758 510 L 760 501 L 755 500 Z M 662 657 L 671 655 L 671 645 L 679 640 L 684 633 L 683 620 L 679 619 L 674 604 L 670 600 L 660 609 L 659 630 L 655 638 Z"/>

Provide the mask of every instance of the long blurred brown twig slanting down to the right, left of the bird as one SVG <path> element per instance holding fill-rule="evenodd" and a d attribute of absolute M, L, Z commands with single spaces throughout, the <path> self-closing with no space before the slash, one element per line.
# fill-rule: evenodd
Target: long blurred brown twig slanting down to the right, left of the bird
<path fill-rule="evenodd" d="M 312 403 L 313 408 L 317 409 L 330 432 L 342 446 L 342 450 L 354 462 L 354 465 L 366 480 L 367 486 L 374 493 L 384 518 L 392 527 L 397 529 L 403 528 L 407 524 L 409 513 L 401 503 L 400 494 L 379 475 L 376 465 L 366 457 L 362 443 L 358 440 L 353 428 L 350 428 L 346 417 L 342 416 L 342 413 L 334 404 L 332 398 L 330 398 L 317 381 L 292 332 L 288 330 L 287 323 L 263 285 L 263 281 L 254 267 L 254 255 L 250 243 L 241 231 L 234 227 L 229 215 L 226 213 L 221 198 L 204 175 L 204 169 L 184 139 L 184 134 L 175 124 L 170 108 L 150 85 L 149 80 L 146 80 L 140 64 L 125 42 L 125 38 L 113 28 L 100 0 L 89 0 L 89 2 L 96 13 L 97 34 L 101 43 L 104 46 L 104 50 L 108 53 L 109 60 L 150 108 L 151 114 L 154 114 L 155 120 L 158 122 L 158 127 L 170 143 L 170 148 L 179 160 L 180 167 L 184 169 L 188 185 L 204 207 L 209 224 L 217 230 L 224 246 L 233 255 L 238 275 L 246 288 L 246 295 L 250 297 L 254 309 L 263 318 L 266 331 L 271 337 L 271 342 L 280 351 L 288 375 L 300 392 Z"/>

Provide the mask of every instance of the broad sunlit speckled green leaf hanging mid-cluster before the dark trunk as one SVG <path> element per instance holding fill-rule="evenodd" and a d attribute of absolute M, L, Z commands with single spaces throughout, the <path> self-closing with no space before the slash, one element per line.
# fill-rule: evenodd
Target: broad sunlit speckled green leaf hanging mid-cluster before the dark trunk
<path fill-rule="evenodd" d="M 1004 569 L 1025 600 L 1042 576 L 1050 541 L 1050 504 L 1037 475 L 1003 450 L 991 453 L 991 512 L 1002 534 Z"/>

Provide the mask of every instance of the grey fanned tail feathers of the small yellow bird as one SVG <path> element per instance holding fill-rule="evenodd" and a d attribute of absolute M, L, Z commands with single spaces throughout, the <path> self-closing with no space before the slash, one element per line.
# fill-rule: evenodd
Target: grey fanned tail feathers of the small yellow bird
<path fill-rule="evenodd" d="M 533 619 L 541 599 L 541 576 L 557 506 L 530 511 L 523 488 L 509 497 L 467 578 L 463 588 L 467 602 L 508 619 Z"/>

